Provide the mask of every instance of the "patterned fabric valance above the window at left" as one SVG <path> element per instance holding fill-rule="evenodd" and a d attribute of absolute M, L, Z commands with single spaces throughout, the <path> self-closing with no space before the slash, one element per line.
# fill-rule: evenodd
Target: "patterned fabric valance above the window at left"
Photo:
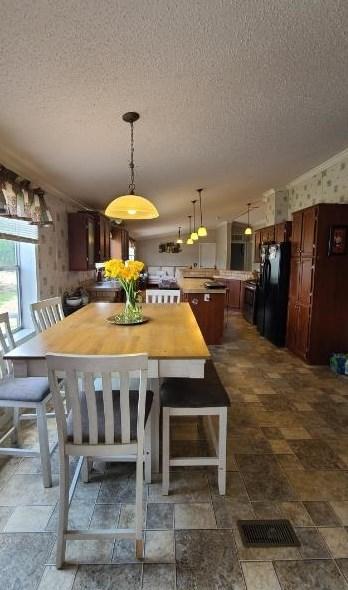
<path fill-rule="evenodd" d="M 0 216 L 29 221 L 33 225 L 52 225 L 45 192 L 31 188 L 30 180 L 0 164 Z"/>

